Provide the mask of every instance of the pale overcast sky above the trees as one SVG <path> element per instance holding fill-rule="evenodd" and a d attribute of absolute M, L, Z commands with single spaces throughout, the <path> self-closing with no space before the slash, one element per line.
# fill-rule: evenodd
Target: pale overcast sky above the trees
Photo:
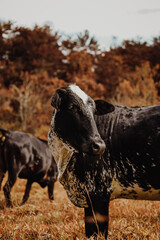
<path fill-rule="evenodd" d="M 102 46 L 160 36 L 160 0 L 0 0 L 0 20 L 33 27 L 46 23 L 74 34 L 89 30 Z"/>

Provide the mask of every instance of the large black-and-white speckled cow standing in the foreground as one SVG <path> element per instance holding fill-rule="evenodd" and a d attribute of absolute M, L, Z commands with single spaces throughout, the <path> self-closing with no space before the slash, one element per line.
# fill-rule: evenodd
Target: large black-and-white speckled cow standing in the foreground
<path fill-rule="evenodd" d="M 88 237 L 107 238 L 110 200 L 160 200 L 160 105 L 113 106 L 76 85 L 51 104 L 48 144 L 68 197 L 85 209 Z"/>

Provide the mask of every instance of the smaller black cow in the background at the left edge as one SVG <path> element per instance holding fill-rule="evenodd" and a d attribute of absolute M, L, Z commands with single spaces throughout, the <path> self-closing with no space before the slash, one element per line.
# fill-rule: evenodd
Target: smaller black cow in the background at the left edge
<path fill-rule="evenodd" d="M 28 179 L 22 204 L 28 197 L 33 182 L 48 186 L 49 199 L 53 200 L 57 165 L 47 141 L 23 132 L 0 128 L 0 185 L 5 172 L 8 180 L 3 187 L 7 207 L 11 207 L 10 192 L 17 177 Z"/>

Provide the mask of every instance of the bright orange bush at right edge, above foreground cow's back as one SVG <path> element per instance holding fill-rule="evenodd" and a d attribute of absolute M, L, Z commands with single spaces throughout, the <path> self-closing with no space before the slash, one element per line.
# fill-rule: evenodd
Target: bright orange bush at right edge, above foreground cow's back
<path fill-rule="evenodd" d="M 135 72 L 119 78 L 113 100 L 122 105 L 153 105 L 159 102 L 153 74 L 148 62 L 136 67 Z"/>

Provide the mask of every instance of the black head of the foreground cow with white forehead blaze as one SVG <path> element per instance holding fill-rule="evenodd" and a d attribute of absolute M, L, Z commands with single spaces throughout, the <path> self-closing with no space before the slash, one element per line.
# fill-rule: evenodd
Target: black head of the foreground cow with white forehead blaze
<path fill-rule="evenodd" d="M 76 85 L 58 89 L 51 105 L 55 108 L 51 129 L 56 137 L 78 152 L 104 152 L 105 143 L 98 133 L 94 115 L 113 111 L 113 105 L 103 100 L 94 101 Z"/>

